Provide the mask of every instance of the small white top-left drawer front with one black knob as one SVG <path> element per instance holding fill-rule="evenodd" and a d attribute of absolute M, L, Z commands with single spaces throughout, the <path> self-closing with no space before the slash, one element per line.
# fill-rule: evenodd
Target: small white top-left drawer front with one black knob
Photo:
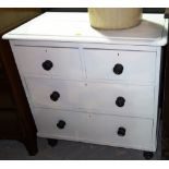
<path fill-rule="evenodd" d="M 25 75 L 82 77 L 81 59 L 76 48 L 15 47 L 14 55 Z"/>

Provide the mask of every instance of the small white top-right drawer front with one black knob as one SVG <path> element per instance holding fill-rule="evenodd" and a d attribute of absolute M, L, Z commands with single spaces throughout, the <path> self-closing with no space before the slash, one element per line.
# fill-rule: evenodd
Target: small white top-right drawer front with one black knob
<path fill-rule="evenodd" d="M 85 49 L 84 57 L 88 79 L 155 81 L 156 52 Z"/>

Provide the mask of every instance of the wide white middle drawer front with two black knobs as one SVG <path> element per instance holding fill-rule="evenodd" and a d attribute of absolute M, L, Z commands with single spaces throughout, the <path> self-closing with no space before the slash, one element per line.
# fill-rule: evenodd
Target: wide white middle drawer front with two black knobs
<path fill-rule="evenodd" d="M 35 107 L 153 117 L 154 87 L 28 79 Z"/>

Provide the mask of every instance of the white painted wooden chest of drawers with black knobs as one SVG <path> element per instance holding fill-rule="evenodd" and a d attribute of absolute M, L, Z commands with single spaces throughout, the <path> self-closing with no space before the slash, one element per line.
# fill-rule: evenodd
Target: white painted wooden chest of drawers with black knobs
<path fill-rule="evenodd" d="M 96 31 L 86 13 L 48 12 L 4 35 L 38 136 L 155 152 L 166 25 Z"/>

